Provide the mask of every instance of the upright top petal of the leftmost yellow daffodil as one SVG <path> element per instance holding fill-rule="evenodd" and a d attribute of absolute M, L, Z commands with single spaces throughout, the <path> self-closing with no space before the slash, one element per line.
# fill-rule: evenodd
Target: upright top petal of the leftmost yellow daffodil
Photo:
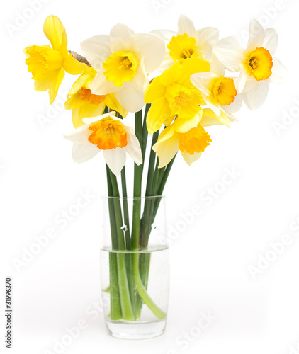
<path fill-rule="evenodd" d="M 67 50 L 67 33 L 58 17 L 51 15 L 45 19 L 44 33 L 54 50 Z"/>

